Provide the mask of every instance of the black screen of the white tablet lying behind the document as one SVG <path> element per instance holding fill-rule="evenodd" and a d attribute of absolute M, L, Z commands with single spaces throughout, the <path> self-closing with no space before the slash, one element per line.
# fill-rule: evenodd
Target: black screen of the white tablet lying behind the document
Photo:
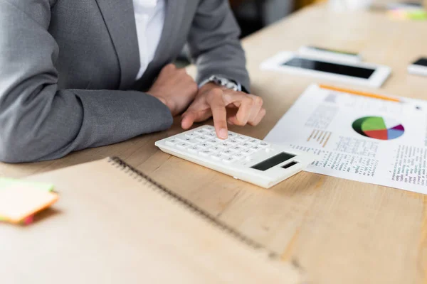
<path fill-rule="evenodd" d="M 283 63 L 282 65 L 302 68 L 306 70 L 327 72 L 337 75 L 346 75 L 362 79 L 369 79 L 371 75 L 375 72 L 374 69 L 369 68 L 341 65 L 337 63 L 323 62 L 298 57 L 292 58 L 291 60 Z"/>

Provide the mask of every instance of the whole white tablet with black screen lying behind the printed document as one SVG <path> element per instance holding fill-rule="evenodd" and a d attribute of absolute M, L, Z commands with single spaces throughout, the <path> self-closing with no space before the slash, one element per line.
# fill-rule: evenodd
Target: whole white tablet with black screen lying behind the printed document
<path fill-rule="evenodd" d="M 290 52 L 265 60 L 261 68 L 369 87 L 381 87 L 391 73 L 391 68 L 384 65 L 320 60 Z"/>

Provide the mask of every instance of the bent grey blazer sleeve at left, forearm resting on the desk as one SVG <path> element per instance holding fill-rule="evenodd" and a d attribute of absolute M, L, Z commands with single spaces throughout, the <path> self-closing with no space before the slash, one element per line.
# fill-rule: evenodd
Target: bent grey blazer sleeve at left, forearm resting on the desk
<path fill-rule="evenodd" d="M 169 128 L 169 109 L 143 92 L 58 89 L 53 1 L 0 0 L 0 160 L 51 160 Z"/>

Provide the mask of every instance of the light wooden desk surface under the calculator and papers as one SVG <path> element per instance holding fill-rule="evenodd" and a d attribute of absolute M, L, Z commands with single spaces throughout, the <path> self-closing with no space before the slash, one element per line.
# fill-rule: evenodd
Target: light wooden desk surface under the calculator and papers
<path fill-rule="evenodd" d="M 253 92 L 263 95 L 268 116 L 256 128 L 231 130 L 263 138 L 273 128 L 313 80 L 262 72 L 258 66 L 279 50 L 297 50 L 309 43 L 362 51 L 367 61 L 393 68 L 381 92 L 427 98 L 427 79 L 406 73 L 408 62 L 427 55 L 427 23 L 390 21 L 375 13 L 337 15 L 312 6 L 244 40 Z M 164 133 L 73 153 L 61 160 L 3 164 L 0 175 L 21 178 L 118 155 L 281 253 L 283 260 L 297 261 L 313 283 L 426 283 L 424 195 L 312 173 L 300 173 L 263 190 L 154 147 L 154 141 L 179 131 L 175 124 Z"/>

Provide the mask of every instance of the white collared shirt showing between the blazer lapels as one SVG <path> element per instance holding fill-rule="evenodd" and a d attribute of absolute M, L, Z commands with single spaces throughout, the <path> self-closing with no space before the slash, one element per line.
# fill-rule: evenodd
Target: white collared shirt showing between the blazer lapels
<path fill-rule="evenodd" d="M 175 0 L 174 0 L 175 1 Z M 139 45 L 141 79 L 154 58 L 164 26 L 164 0 L 133 0 Z"/>

